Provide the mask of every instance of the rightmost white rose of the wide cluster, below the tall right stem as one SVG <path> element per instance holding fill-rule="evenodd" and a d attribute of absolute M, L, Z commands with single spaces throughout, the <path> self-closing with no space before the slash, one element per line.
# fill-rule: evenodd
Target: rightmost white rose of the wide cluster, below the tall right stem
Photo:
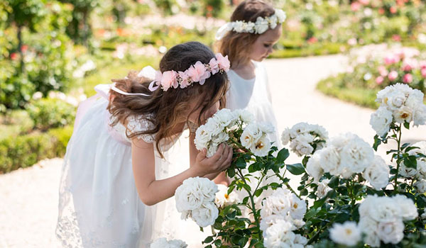
<path fill-rule="evenodd" d="M 374 156 L 373 164 L 370 167 L 367 167 L 363 172 L 364 178 L 376 188 L 376 190 L 381 190 L 381 188 L 386 188 L 389 183 L 389 173 L 391 170 L 380 156 Z"/>

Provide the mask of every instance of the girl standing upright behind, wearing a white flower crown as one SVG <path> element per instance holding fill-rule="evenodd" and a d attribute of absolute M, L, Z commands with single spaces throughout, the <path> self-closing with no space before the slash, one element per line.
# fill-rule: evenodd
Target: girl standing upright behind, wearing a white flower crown
<path fill-rule="evenodd" d="M 246 0 L 236 7 L 231 22 L 217 32 L 219 51 L 231 61 L 228 72 L 230 89 L 226 108 L 243 108 L 258 121 L 275 126 L 271 141 L 280 147 L 276 120 L 271 103 L 266 69 L 261 63 L 273 52 L 285 20 L 282 10 L 275 10 L 262 0 Z"/>

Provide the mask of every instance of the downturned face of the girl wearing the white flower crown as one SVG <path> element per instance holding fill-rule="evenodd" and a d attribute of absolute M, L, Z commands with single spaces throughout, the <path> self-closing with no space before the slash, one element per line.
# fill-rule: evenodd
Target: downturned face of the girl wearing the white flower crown
<path fill-rule="evenodd" d="M 251 46 L 250 60 L 261 62 L 273 52 L 273 45 L 278 42 L 281 36 L 281 24 L 274 29 L 268 29 L 261 34 Z"/>

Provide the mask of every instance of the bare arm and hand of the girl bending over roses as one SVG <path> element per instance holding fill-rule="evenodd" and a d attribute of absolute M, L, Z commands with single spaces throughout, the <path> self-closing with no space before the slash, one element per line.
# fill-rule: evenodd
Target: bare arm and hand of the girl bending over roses
<path fill-rule="evenodd" d="M 207 158 L 203 150 L 195 157 L 195 164 L 182 173 L 168 179 L 155 180 L 155 156 L 152 143 L 134 139 L 131 145 L 133 176 L 139 198 L 146 205 L 154 205 L 175 194 L 176 188 L 185 179 L 207 174 L 219 174 L 231 165 L 232 148 L 221 145 L 217 152 Z"/>

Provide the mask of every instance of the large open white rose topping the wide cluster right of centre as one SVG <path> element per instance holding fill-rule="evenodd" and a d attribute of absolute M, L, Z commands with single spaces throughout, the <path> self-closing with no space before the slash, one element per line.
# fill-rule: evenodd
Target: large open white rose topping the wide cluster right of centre
<path fill-rule="evenodd" d="M 374 150 L 357 135 L 342 148 L 340 163 L 351 173 L 361 173 L 374 159 Z"/>

